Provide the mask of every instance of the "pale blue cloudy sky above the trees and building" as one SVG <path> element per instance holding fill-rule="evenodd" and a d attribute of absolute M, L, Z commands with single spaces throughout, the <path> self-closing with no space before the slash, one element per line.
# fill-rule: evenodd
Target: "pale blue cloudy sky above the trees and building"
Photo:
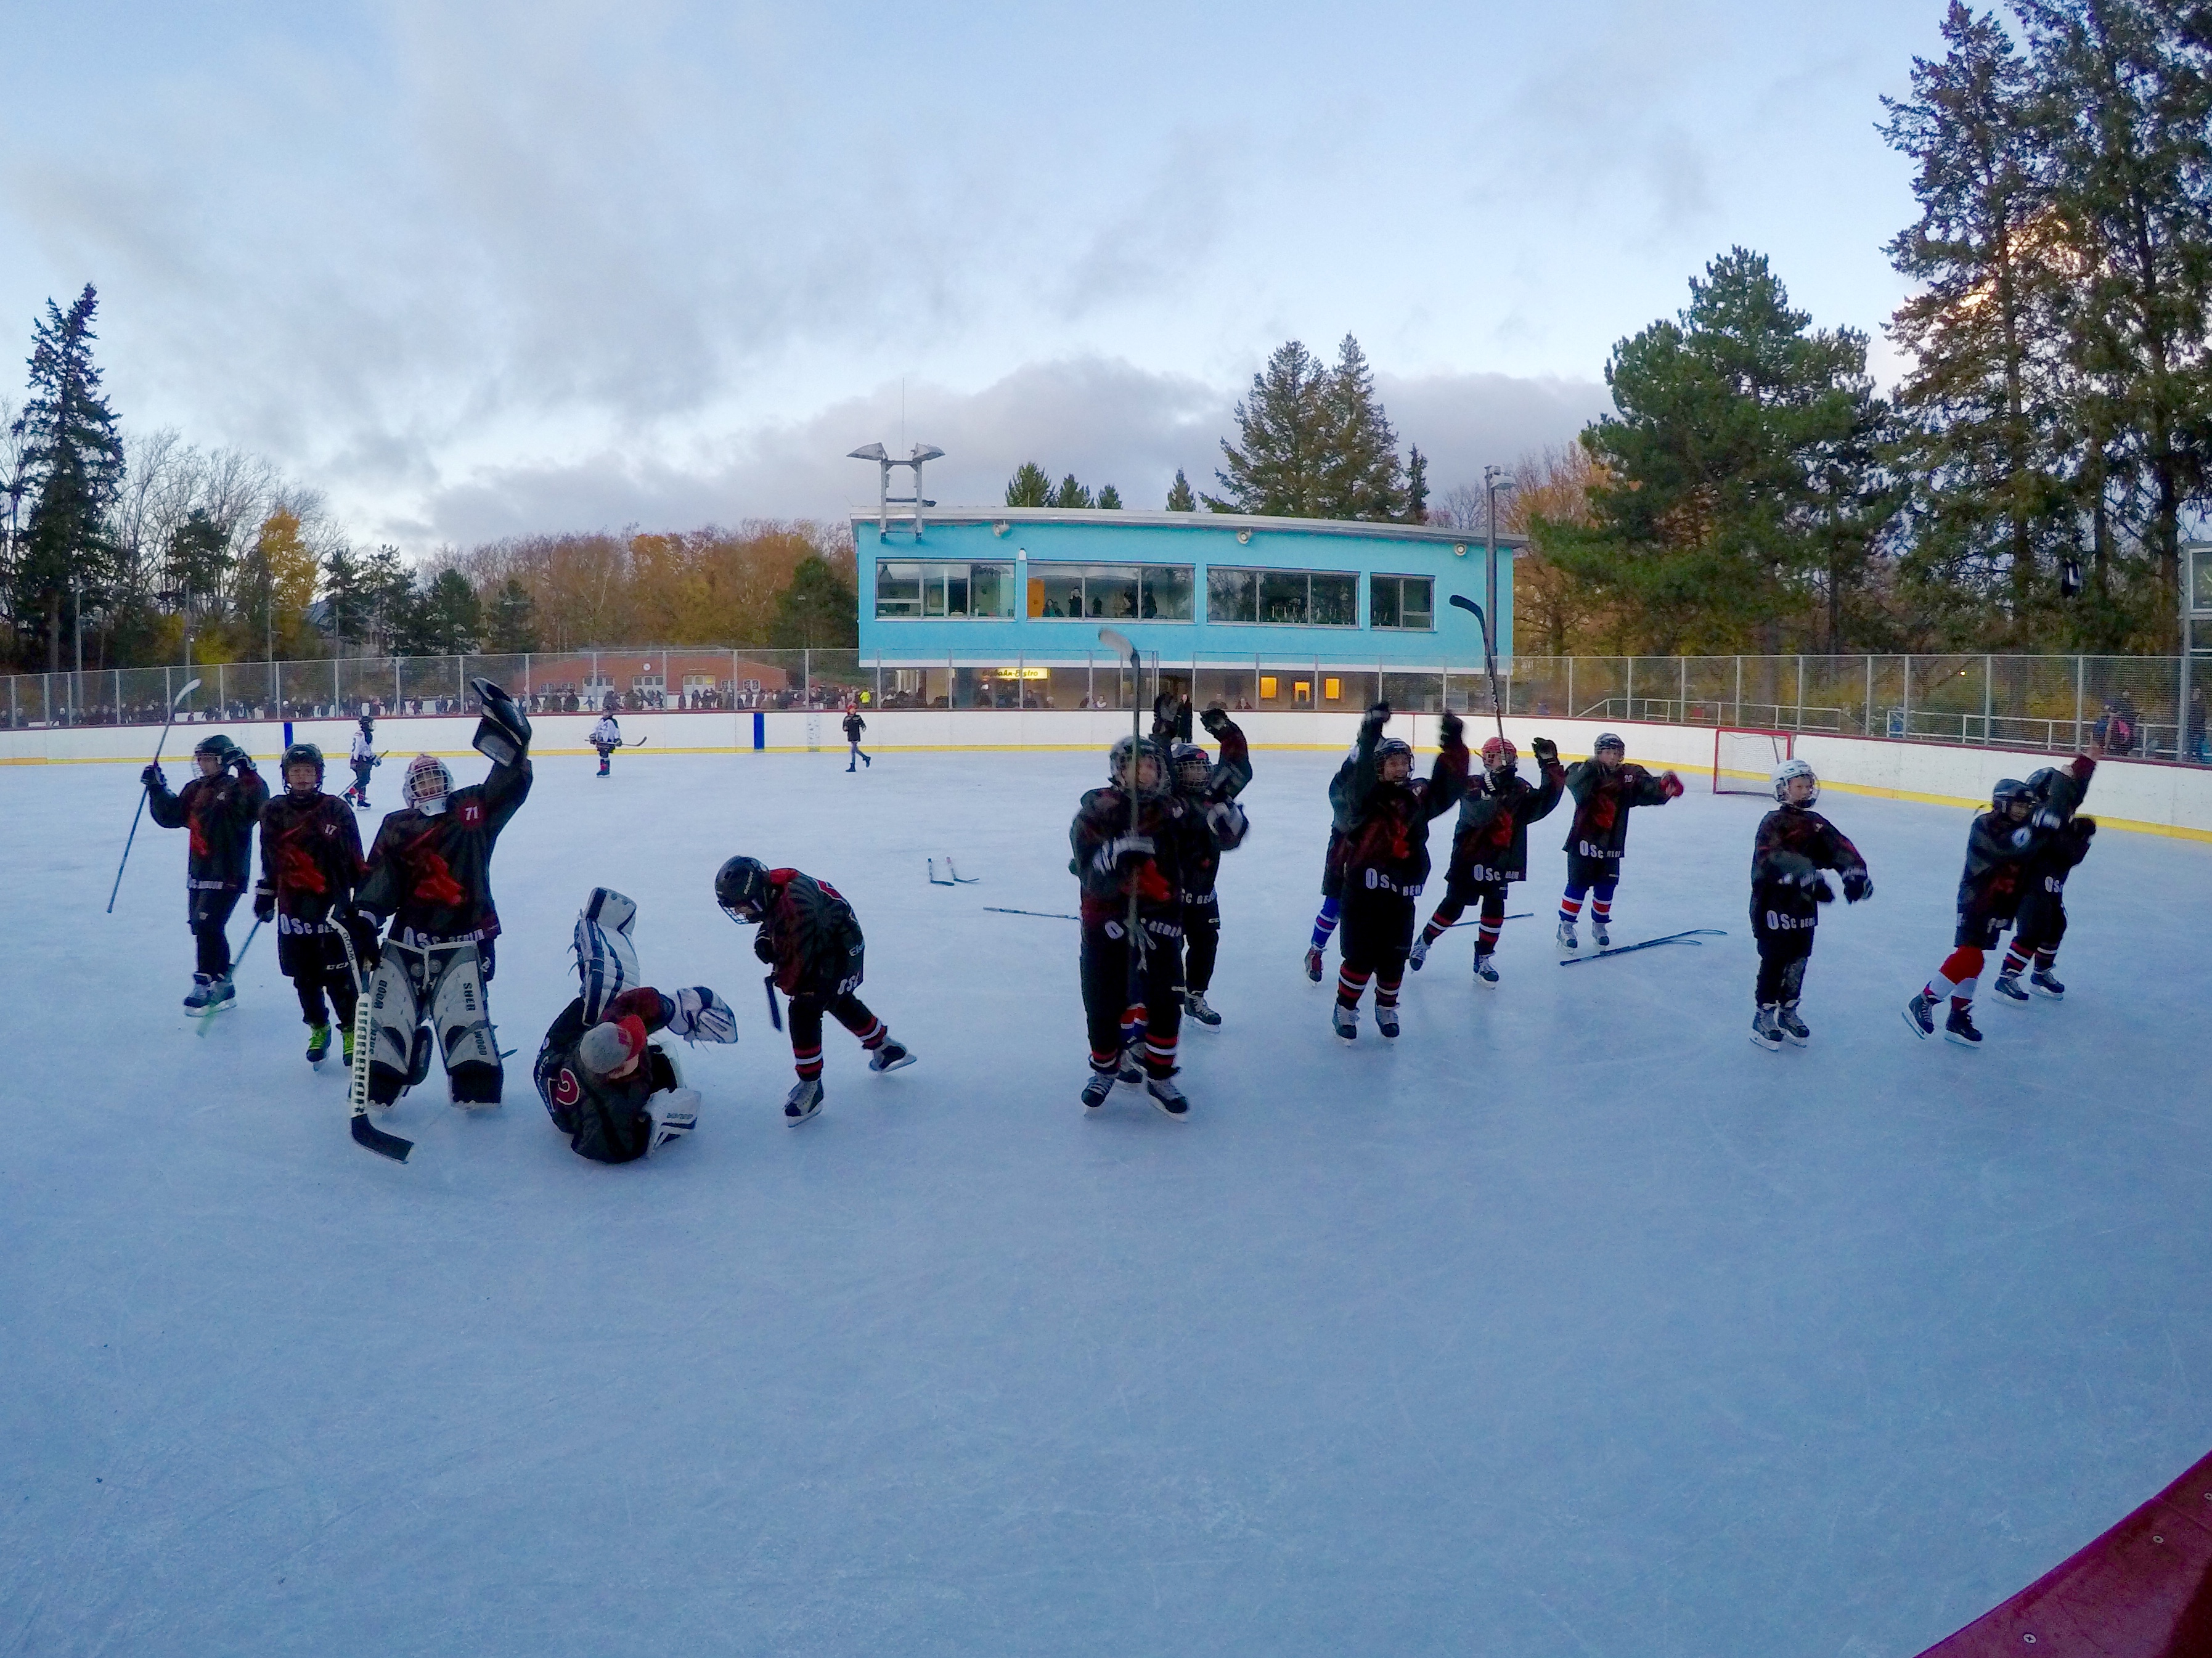
<path fill-rule="evenodd" d="M 126 429 L 425 553 L 836 517 L 878 440 L 947 504 L 1035 460 L 1157 508 L 1345 334 L 1442 495 L 1573 440 L 1730 245 L 1887 376 L 1876 122 L 1942 4 L 4 15 L 0 349 L 93 283 Z"/>

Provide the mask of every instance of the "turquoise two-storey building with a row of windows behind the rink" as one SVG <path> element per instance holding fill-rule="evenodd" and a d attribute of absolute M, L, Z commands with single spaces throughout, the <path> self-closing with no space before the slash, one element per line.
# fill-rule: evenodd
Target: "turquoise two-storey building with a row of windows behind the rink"
<path fill-rule="evenodd" d="M 1099 628 L 1157 690 L 1228 707 L 1462 707 L 1513 650 L 1513 555 L 1422 524 L 1042 506 L 852 517 L 860 663 L 885 707 L 1115 707 Z M 1449 676 L 1449 683 L 1447 683 Z M 1155 685 L 1148 679 L 1146 696 Z"/>

